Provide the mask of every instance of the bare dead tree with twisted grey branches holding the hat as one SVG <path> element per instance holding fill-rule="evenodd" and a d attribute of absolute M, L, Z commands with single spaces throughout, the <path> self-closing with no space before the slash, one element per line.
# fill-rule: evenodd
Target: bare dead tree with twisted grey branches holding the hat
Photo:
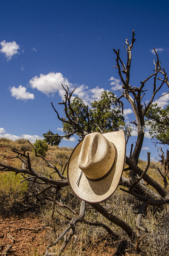
<path fill-rule="evenodd" d="M 116 51 L 114 49 L 114 52 L 116 54 L 116 66 L 114 68 L 118 69 L 118 73 L 119 73 L 119 76 L 121 79 L 122 89 L 123 89 L 123 91 L 121 91 L 121 96 L 118 98 L 120 107 L 123 110 L 123 103 L 122 103 L 121 99 L 123 97 L 126 98 L 129 101 L 129 103 L 131 104 L 133 111 L 135 113 L 135 116 L 136 116 L 136 120 L 133 120 L 133 122 L 132 122 L 134 125 L 136 125 L 137 132 L 138 132 L 136 145 L 135 145 L 133 152 L 132 152 L 133 147 L 131 147 L 130 157 L 126 156 L 126 164 L 129 166 L 127 169 L 130 170 L 129 178 L 127 179 L 122 176 L 121 181 L 119 183 L 119 185 L 126 187 L 126 189 L 121 188 L 121 190 L 125 191 L 126 193 L 131 194 L 132 196 L 135 196 L 141 202 L 141 206 L 138 210 L 136 230 L 133 230 L 133 228 L 131 228 L 125 221 L 121 220 L 118 216 L 114 216 L 111 212 L 108 212 L 107 209 L 102 204 L 96 203 L 96 204 L 90 204 L 90 205 L 97 212 L 101 213 L 105 218 L 107 218 L 109 221 L 113 222 L 118 227 L 122 228 L 126 232 L 128 237 L 132 241 L 136 242 L 136 250 L 139 251 L 140 241 L 144 237 L 143 236 L 140 238 L 139 231 L 142 230 L 145 233 L 149 232 L 146 228 L 143 228 L 140 226 L 140 220 L 141 220 L 144 208 L 146 207 L 146 205 L 160 206 L 160 205 L 169 203 L 169 193 L 165 190 L 167 185 L 165 186 L 165 188 L 163 188 L 156 180 L 153 180 L 146 173 L 149 168 L 149 164 L 150 164 L 150 153 L 148 153 L 148 164 L 147 164 L 146 169 L 142 170 L 141 168 L 139 168 L 137 166 L 138 158 L 140 155 L 140 151 L 141 151 L 141 148 L 143 145 L 143 139 L 144 139 L 144 129 L 143 129 L 145 126 L 144 116 L 145 116 L 148 108 L 150 107 L 151 103 L 153 102 L 156 93 L 161 89 L 163 84 L 166 84 L 169 87 L 169 83 L 168 83 L 168 77 L 166 75 L 165 69 L 161 67 L 161 64 L 160 64 L 160 61 L 158 58 L 158 54 L 157 54 L 156 50 L 154 49 L 157 60 L 156 60 L 156 62 L 154 60 L 155 69 L 153 70 L 153 73 L 150 76 L 148 76 L 146 79 L 141 81 L 139 87 L 132 86 L 129 84 L 130 66 L 131 66 L 131 59 L 132 59 L 131 52 L 134 47 L 134 42 L 136 40 L 134 36 L 135 36 L 135 34 L 134 34 L 134 30 L 133 30 L 131 44 L 129 44 L 128 39 L 126 39 L 126 41 L 125 41 L 126 46 L 124 45 L 124 48 L 126 49 L 126 52 L 127 52 L 127 64 L 126 65 L 121 60 L 120 50 L 118 49 L 118 51 Z M 163 76 L 163 79 L 161 78 L 161 76 Z M 141 101 L 143 99 L 143 96 L 145 95 L 145 92 L 147 91 L 147 89 L 144 89 L 144 88 L 145 88 L 146 82 L 149 81 L 151 78 L 153 78 L 151 99 L 147 103 L 147 105 L 144 103 L 144 106 L 143 106 Z M 157 86 L 157 80 L 160 81 L 160 84 L 158 86 Z M 62 87 L 63 87 L 63 85 L 62 85 Z M 63 123 L 71 124 L 71 126 L 73 128 L 72 128 L 72 131 L 70 132 L 70 134 L 66 134 L 64 136 L 59 136 L 59 139 L 62 139 L 63 137 L 70 138 L 70 136 L 72 136 L 73 134 L 75 134 L 77 132 L 81 134 L 80 138 L 84 138 L 85 135 L 92 132 L 89 130 L 90 115 L 88 113 L 88 108 L 86 111 L 87 130 L 85 131 L 82 129 L 82 126 L 78 120 L 78 116 L 80 115 L 80 112 L 78 115 L 75 115 L 74 110 L 71 107 L 71 96 L 75 89 L 72 92 L 69 92 L 68 86 L 67 86 L 67 88 L 63 87 L 63 89 L 65 90 L 64 100 L 59 104 L 62 104 L 64 107 L 66 119 L 60 117 L 56 108 L 54 107 L 53 103 L 51 103 L 51 104 L 52 104 L 53 109 L 55 110 L 57 118 L 60 121 L 62 121 Z M 68 114 L 68 109 L 70 110 L 71 115 Z M 51 136 L 51 135 L 49 135 L 49 136 Z M 52 135 L 52 136 L 55 136 L 55 135 Z M 32 145 L 32 146 L 34 147 L 34 145 Z M 46 161 L 47 166 L 49 168 L 53 169 L 52 173 L 57 172 L 57 174 L 60 177 L 60 180 L 53 180 L 52 176 L 51 176 L 52 173 L 50 173 L 48 175 L 42 175 L 42 174 L 36 172 L 31 165 L 31 159 L 30 159 L 29 153 L 26 154 L 26 150 L 23 153 L 14 151 L 17 154 L 16 157 L 23 162 L 22 169 L 4 165 L 4 164 L 0 164 L 0 170 L 4 171 L 4 172 L 12 171 L 12 172 L 15 172 L 16 174 L 23 173 L 25 180 L 33 180 L 33 183 L 38 183 L 41 185 L 48 185 L 43 191 L 40 191 L 39 193 L 43 193 L 44 191 L 48 190 L 49 188 L 55 188 L 56 193 L 57 193 L 61 188 L 69 186 L 68 180 L 64 176 L 64 171 L 66 169 L 66 165 L 64 168 L 62 166 L 63 170 L 62 169 L 58 170 L 55 165 L 50 164 L 49 161 L 46 160 L 43 156 L 37 155 L 36 148 L 34 147 L 34 149 L 35 149 L 35 156 L 41 157 L 44 161 Z M 127 170 L 127 169 L 125 169 L 125 170 Z M 147 185 L 145 185 L 145 182 L 147 183 L 147 185 L 151 185 L 151 187 L 153 187 L 156 190 L 156 193 L 153 192 L 151 189 L 149 189 L 147 187 Z M 76 239 L 75 228 L 76 228 L 77 222 L 83 222 L 87 225 L 94 225 L 94 226 L 99 226 L 99 227 L 105 228 L 105 230 L 107 230 L 108 234 L 111 234 L 114 237 L 122 238 L 121 234 L 115 233 L 114 231 L 111 230 L 110 227 L 108 227 L 104 223 L 100 223 L 95 220 L 92 220 L 92 221 L 85 220 L 85 202 L 83 202 L 83 201 L 81 202 L 80 213 L 77 213 L 73 209 L 71 209 L 69 206 L 61 204 L 61 203 L 57 202 L 56 200 L 54 200 L 54 201 L 55 201 L 55 204 L 60 205 L 60 207 L 67 208 L 70 212 L 72 212 L 75 215 L 75 217 L 73 219 L 71 219 L 66 214 L 63 214 L 60 212 L 62 214 L 62 216 L 64 216 L 67 220 L 70 220 L 70 224 L 63 231 L 61 236 L 59 236 L 56 239 L 56 241 L 54 243 L 51 243 L 48 245 L 45 256 L 50 255 L 50 253 L 48 252 L 48 249 L 50 247 L 52 247 L 53 245 L 57 244 L 63 238 L 64 238 L 64 241 L 63 241 L 62 246 L 60 247 L 60 253 L 64 250 L 66 245 L 69 243 L 72 236 L 74 236 Z M 53 207 L 53 209 L 55 210 L 55 207 Z M 55 254 L 53 253 L 52 255 L 55 255 Z"/>

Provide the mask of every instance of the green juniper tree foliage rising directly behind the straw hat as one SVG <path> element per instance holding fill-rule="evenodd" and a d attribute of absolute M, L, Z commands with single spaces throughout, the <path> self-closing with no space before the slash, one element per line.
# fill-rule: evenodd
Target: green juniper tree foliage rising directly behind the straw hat
<path fill-rule="evenodd" d="M 100 132 L 101 129 L 103 132 L 110 132 L 117 130 L 120 124 L 125 126 L 124 117 L 121 114 L 121 109 L 118 106 L 117 98 L 113 92 L 102 92 L 99 100 L 94 100 L 91 103 L 91 106 L 92 108 L 89 110 L 90 131 Z M 75 116 L 78 116 L 78 122 L 82 129 L 87 131 L 87 106 L 85 106 L 80 98 L 76 97 L 71 103 L 71 108 L 73 109 Z M 69 108 L 68 113 L 69 116 L 72 115 Z M 94 123 L 97 124 L 100 129 Z M 64 132 L 69 134 L 73 130 L 74 127 L 72 125 L 63 123 Z M 77 132 L 77 135 L 80 134 Z"/>

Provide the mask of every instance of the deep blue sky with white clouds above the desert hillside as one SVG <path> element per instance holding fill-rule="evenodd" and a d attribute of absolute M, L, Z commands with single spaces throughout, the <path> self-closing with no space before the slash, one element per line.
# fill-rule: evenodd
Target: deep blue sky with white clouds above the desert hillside
<path fill-rule="evenodd" d="M 63 95 L 61 83 L 76 84 L 75 96 L 86 103 L 102 89 L 119 96 L 116 89 L 121 83 L 117 69 L 111 67 L 115 65 L 113 48 L 120 48 L 125 62 L 123 45 L 126 38 L 131 41 L 132 29 L 136 42 L 130 84 L 139 85 L 153 71 L 153 47 L 168 72 L 168 7 L 168 1 L 1 1 L 0 136 L 33 141 L 49 129 L 62 135 L 58 130 L 62 123 L 50 104 L 62 115 L 62 106 L 57 105 Z M 144 101 L 149 100 L 152 84 L 153 80 L 147 84 Z M 168 95 L 158 96 L 167 91 L 164 85 L 155 98 L 163 108 Z M 126 100 L 124 108 L 126 121 L 132 121 Z M 127 152 L 134 141 L 136 136 L 129 139 Z M 77 142 L 75 136 L 60 146 L 74 147 Z M 150 138 L 145 138 L 143 147 L 149 148 L 151 157 L 158 155 Z M 142 150 L 140 157 L 146 156 L 147 150 Z"/>

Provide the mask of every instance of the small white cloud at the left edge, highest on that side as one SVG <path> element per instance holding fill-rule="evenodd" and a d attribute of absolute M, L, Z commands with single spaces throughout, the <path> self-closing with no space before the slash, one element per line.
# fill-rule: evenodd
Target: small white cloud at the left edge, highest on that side
<path fill-rule="evenodd" d="M 5 54 L 5 57 L 7 58 L 7 60 L 11 60 L 13 55 L 16 55 L 18 52 L 18 49 L 20 49 L 19 45 L 13 41 L 13 42 L 6 42 L 5 40 L 3 40 L 1 42 L 1 53 Z"/>

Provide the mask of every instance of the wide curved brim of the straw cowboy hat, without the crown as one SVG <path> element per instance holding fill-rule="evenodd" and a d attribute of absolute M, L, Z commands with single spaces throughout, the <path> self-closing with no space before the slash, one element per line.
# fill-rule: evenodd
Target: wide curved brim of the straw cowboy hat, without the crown
<path fill-rule="evenodd" d="M 88 180 L 78 167 L 78 158 L 83 144 L 81 140 L 74 148 L 67 167 L 67 177 L 70 188 L 80 199 L 88 203 L 100 203 L 109 198 L 116 190 L 125 163 L 126 139 L 124 131 L 104 132 L 102 135 L 112 142 L 117 149 L 117 160 L 114 168 L 106 178 L 99 181 Z M 78 181 L 79 177 L 81 178 Z"/>

